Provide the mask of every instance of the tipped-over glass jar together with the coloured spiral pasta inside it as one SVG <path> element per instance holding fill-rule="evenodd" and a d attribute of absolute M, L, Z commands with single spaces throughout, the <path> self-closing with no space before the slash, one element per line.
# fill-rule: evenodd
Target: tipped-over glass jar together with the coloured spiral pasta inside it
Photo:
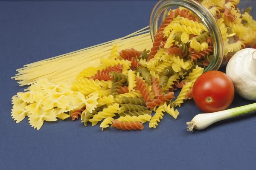
<path fill-rule="evenodd" d="M 150 31 L 154 44 L 149 59 L 165 49 L 184 63 L 184 71 L 189 64 L 191 69 L 218 70 L 256 42 L 251 8 L 244 9 L 239 0 L 160 0 L 151 13 Z"/>

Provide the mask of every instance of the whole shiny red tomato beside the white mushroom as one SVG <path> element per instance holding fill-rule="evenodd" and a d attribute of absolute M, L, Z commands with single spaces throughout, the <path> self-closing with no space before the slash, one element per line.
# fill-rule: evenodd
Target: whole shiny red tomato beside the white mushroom
<path fill-rule="evenodd" d="M 193 99 L 204 113 L 226 110 L 233 102 L 232 80 L 221 71 L 208 71 L 195 81 Z"/>

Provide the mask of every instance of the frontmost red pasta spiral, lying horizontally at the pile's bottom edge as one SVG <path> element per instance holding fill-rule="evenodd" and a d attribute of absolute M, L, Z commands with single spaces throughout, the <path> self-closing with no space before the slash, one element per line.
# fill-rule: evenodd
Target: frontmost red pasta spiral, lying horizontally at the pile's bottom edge
<path fill-rule="evenodd" d="M 122 130 L 143 130 L 144 126 L 141 122 L 119 122 L 118 120 L 112 120 L 111 127 L 116 127 Z"/>

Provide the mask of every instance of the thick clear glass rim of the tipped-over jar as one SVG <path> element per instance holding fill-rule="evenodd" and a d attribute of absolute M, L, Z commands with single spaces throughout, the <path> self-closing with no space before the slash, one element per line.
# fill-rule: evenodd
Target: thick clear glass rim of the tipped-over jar
<path fill-rule="evenodd" d="M 239 0 L 236 0 L 239 1 Z M 238 8 L 246 8 L 249 6 L 250 0 L 243 0 L 239 3 Z M 212 38 L 212 59 L 209 65 L 204 69 L 204 72 L 211 70 L 218 70 L 220 67 L 227 64 L 228 59 L 224 57 L 224 40 L 221 30 L 218 27 L 217 19 L 211 12 L 205 8 L 198 0 L 160 0 L 153 8 L 150 16 L 150 34 L 154 42 L 154 35 L 166 19 L 170 10 L 178 7 L 186 8 L 192 11 L 207 27 Z M 252 17 L 256 12 L 251 13 Z M 255 37 L 256 40 L 256 37 Z M 248 47 L 248 46 L 247 46 Z"/>

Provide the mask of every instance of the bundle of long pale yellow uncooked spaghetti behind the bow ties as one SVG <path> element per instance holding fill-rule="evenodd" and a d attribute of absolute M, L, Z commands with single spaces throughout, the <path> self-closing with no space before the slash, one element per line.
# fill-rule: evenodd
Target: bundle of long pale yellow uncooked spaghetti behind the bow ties
<path fill-rule="evenodd" d="M 23 68 L 17 69 L 18 73 L 12 78 L 17 80 L 20 86 L 31 85 L 44 77 L 52 83 L 73 82 L 85 68 L 90 65 L 99 65 L 99 58 L 110 53 L 113 42 L 118 43 L 121 50 L 133 47 L 139 51 L 143 51 L 145 48 L 150 49 L 152 42 L 147 28 L 117 40 L 24 65 Z"/>

